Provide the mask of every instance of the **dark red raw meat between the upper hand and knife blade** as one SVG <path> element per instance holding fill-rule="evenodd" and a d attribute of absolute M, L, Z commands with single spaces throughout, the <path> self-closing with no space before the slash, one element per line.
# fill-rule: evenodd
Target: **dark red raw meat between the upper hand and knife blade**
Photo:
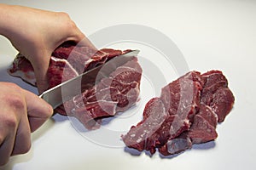
<path fill-rule="evenodd" d="M 57 48 L 52 54 L 47 72 L 49 88 L 77 77 L 97 65 L 102 65 L 119 54 L 123 52 L 114 49 L 102 49 L 95 52 L 87 47 Z"/>

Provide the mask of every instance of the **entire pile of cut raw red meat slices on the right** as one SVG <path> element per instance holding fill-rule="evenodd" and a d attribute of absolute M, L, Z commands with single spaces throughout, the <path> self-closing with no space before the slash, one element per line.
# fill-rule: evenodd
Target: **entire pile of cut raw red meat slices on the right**
<path fill-rule="evenodd" d="M 221 71 L 190 71 L 162 88 L 160 97 L 150 99 L 143 121 L 122 139 L 128 147 L 152 155 L 156 149 L 163 156 L 180 153 L 216 139 L 216 126 L 224 122 L 234 101 Z"/>

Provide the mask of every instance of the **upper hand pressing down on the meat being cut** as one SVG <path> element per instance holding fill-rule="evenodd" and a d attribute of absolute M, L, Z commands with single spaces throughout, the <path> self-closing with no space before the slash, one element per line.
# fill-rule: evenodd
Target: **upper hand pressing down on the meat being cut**
<path fill-rule="evenodd" d="M 3 36 L 32 62 L 39 93 L 48 88 L 50 55 L 62 42 L 83 40 L 84 46 L 96 49 L 68 14 L 0 4 L 0 15 L 0 34 L 2 25 Z"/>

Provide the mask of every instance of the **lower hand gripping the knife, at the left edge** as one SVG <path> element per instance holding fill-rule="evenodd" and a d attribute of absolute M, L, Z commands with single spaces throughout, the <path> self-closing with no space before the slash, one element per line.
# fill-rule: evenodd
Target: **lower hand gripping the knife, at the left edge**
<path fill-rule="evenodd" d="M 9 156 L 26 153 L 31 147 L 31 133 L 53 111 L 37 95 L 14 83 L 0 82 L 0 166 Z"/>

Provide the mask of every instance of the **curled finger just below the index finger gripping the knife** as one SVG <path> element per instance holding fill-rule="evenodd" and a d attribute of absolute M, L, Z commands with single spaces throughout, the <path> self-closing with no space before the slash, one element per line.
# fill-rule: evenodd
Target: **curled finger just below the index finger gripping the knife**
<path fill-rule="evenodd" d="M 27 115 L 23 114 L 20 118 L 20 124 L 16 131 L 14 150 L 11 156 L 25 154 L 31 148 L 31 130 Z"/>

